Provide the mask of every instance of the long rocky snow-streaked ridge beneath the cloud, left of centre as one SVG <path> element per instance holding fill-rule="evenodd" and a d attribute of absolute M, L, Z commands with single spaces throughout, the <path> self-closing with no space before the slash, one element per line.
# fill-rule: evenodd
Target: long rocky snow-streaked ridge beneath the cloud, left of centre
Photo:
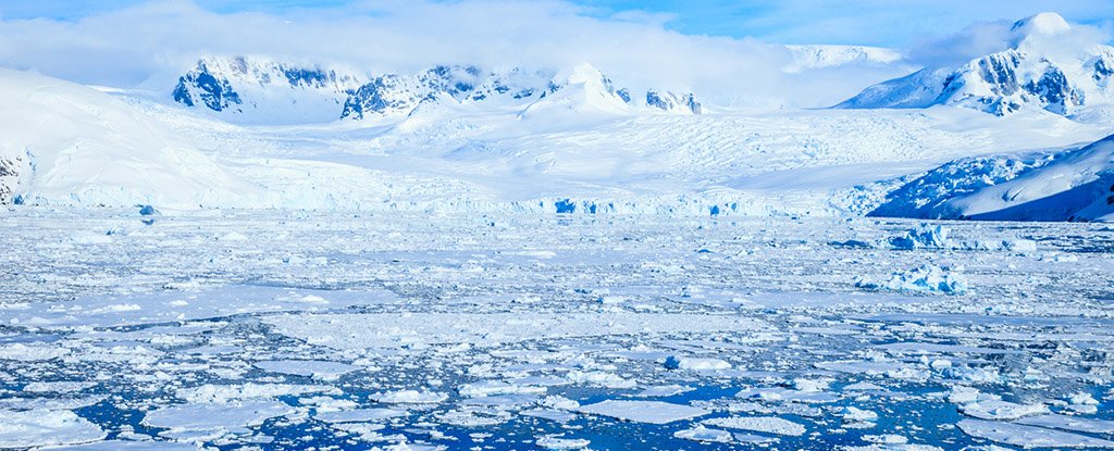
<path fill-rule="evenodd" d="M 590 88 L 620 99 L 624 111 L 701 114 L 704 109 L 691 92 L 653 89 L 635 95 L 616 88 L 609 78 L 586 63 L 559 71 L 437 66 L 417 73 L 364 77 L 262 58 L 211 57 L 178 78 L 173 98 L 235 122 L 320 124 L 407 116 L 428 104 L 525 110 L 561 90 L 575 89 L 571 85 L 583 87 L 585 80 L 569 82 L 570 73 L 594 78 Z M 582 107 L 590 108 L 574 108 Z"/>

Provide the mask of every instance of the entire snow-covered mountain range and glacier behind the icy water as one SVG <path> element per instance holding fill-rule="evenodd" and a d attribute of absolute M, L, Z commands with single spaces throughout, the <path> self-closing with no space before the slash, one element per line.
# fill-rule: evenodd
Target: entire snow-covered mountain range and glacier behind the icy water
<path fill-rule="evenodd" d="M 1073 32 L 1024 19 L 999 51 L 824 109 L 709 106 L 589 63 L 209 56 L 155 96 L 2 70 L 0 203 L 1107 220 L 1114 50 L 1051 45 Z M 793 79 L 902 58 L 789 49 Z"/>

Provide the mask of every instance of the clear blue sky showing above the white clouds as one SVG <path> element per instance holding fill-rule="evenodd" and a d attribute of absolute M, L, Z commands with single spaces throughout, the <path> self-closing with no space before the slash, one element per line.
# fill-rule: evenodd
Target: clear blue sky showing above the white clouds
<path fill-rule="evenodd" d="M 0 0 L 4 19 L 84 17 L 143 3 L 141 0 Z M 195 0 L 219 13 L 263 11 L 296 14 L 398 0 Z M 403 2 L 404 3 L 404 2 Z M 1107 27 L 1110 0 L 573 0 L 586 16 L 658 20 L 685 35 L 755 37 L 784 43 L 854 43 L 900 47 L 954 32 L 973 22 L 1013 20 L 1053 9 L 1073 22 Z M 645 13 L 642 13 L 645 12 Z"/>

